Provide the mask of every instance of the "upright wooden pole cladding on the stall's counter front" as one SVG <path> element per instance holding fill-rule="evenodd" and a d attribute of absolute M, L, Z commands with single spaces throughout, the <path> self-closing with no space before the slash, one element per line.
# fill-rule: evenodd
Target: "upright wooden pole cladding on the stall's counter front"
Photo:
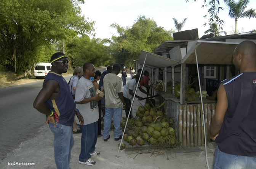
<path fill-rule="evenodd" d="M 203 111 L 201 104 L 179 106 L 179 136 L 183 147 L 197 147 L 205 144 L 203 130 Z M 210 142 L 211 119 L 215 113 L 216 103 L 203 105 L 205 115 L 206 140 Z M 178 127 L 178 126 L 177 126 Z"/>

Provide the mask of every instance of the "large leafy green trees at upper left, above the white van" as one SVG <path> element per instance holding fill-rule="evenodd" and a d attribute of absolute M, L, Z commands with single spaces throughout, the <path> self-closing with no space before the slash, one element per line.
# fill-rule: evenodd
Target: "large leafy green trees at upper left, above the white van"
<path fill-rule="evenodd" d="M 81 15 L 79 3 L 84 1 L 1 0 L 0 62 L 3 67 L 17 72 L 31 70 L 37 61 L 49 59 L 56 52 L 53 45 L 57 41 L 91 33 L 94 22 L 88 22 Z"/>

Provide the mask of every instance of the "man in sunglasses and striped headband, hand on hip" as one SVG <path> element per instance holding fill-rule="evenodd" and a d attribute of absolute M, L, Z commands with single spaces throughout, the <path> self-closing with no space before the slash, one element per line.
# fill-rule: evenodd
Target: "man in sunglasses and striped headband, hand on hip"
<path fill-rule="evenodd" d="M 74 145 L 74 112 L 80 124 L 83 124 L 83 117 L 75 108 L 69 85 L 61 75 L 67 72 L 68 63 L 64 53 L 57 52 L 51 56 L 52 70 L 46 75 L 43 88 L 33 104 L 40 113 L 46 114 L 45 124 L 49 124 L 54 134 L 54 159 L 58 169 L 69 169 L 70 150 Z"/>

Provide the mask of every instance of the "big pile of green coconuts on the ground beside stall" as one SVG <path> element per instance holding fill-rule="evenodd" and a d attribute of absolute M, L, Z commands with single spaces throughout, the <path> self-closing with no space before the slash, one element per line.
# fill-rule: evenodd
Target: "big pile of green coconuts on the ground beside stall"
<path fill-rule="evenodd" d="M 149 103 L 139 106 L 136 118 L 128 119 L 123 140 L 131 146 L 144 144 L 174 147 L 178 143 L 173 128 L 174 120 L 165 117 L 160 110 L 165 104 L 152 107 Z M 121 127 L 125 127 L 126 118 L 123 117 Z"/>

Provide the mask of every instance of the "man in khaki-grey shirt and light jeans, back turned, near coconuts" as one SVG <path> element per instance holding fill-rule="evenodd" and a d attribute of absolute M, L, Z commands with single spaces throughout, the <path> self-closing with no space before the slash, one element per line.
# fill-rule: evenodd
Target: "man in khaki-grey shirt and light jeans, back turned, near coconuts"
<path fill-rule="evenodd" d="M 123 112 L 122 109 L 125 108 L 125 101 L 123 100 L 122 80 L 117 76 L 120 69 L 120 64 L 113 64 L 112 72 L 107 74 L 103 79 L 103 90 L 105 91 L 106 98 L 106 113 L 104 117 L 104 130 L 102 132 L 104 141 L 110 138 L 109 130 L 112 118 L 114 118 L 115 141 L 122 138 L 120 122 Z"/>

